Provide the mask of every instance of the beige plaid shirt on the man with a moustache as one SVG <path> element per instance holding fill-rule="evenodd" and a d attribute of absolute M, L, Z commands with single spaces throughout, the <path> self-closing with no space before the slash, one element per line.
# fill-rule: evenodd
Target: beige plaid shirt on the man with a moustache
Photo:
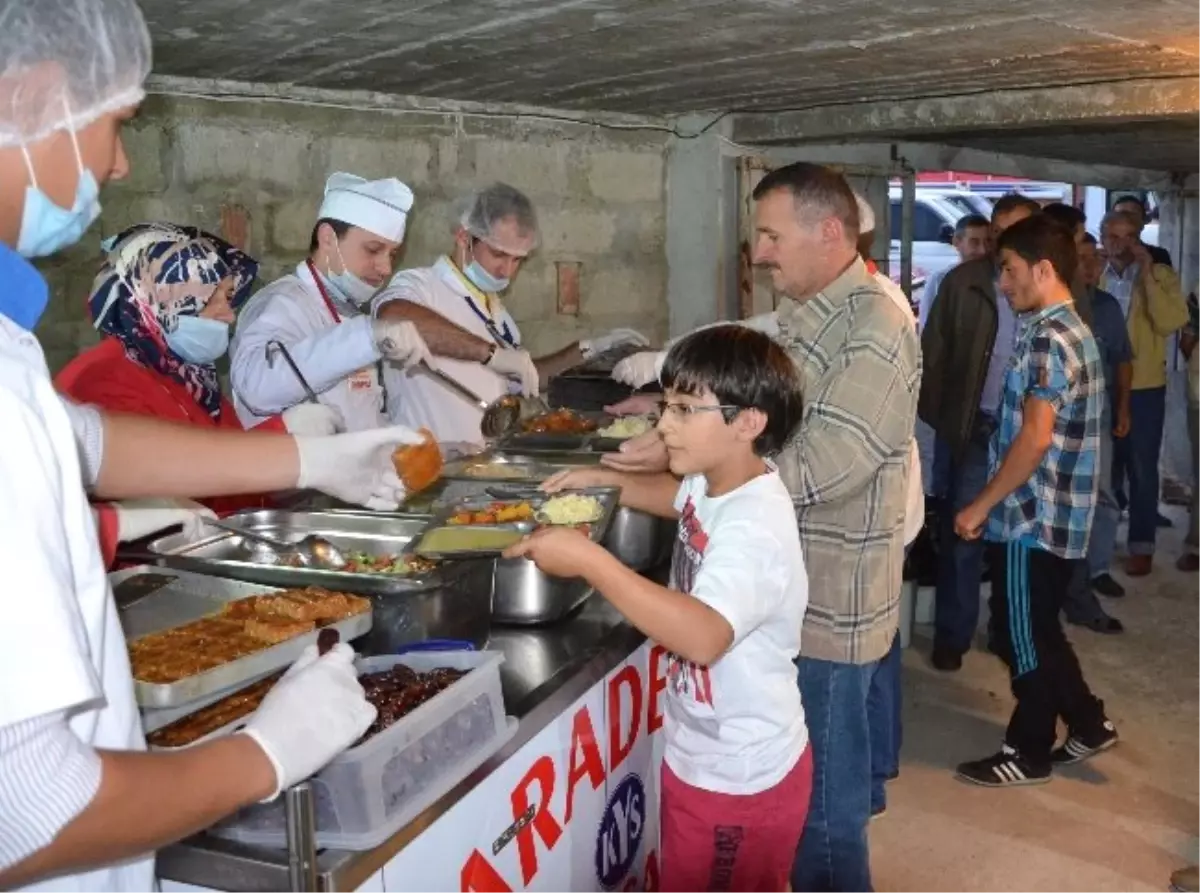
<path fill-rule="evenodd" d="M 899 622 L 920 344 L 862 260 L 778 316 L 804 388 L 778 460 L 809 573 L 800 654 L 866 664 L 887 654 Z"/>

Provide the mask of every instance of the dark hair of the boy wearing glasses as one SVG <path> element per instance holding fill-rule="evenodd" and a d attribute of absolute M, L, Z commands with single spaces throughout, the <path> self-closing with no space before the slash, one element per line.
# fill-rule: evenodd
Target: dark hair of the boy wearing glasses
<path fill-rule="evenodd" d="M 767 425 L 754 442 L 760 456 L 779 453 L 800 421 L 799 370 L 782 347 L 744 325 L 713 325 L 680 338 L 660 380 L 680 394 L 712 394 L 722 406 L 763 413 Z M 722 414 L 728 422 L 737 410 Z"/>

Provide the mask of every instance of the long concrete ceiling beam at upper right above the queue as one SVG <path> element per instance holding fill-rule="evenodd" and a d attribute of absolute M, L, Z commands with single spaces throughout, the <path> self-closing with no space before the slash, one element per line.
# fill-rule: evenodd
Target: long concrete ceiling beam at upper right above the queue
<path fill-rule="evenodd" d="M 1200 77 L 1138 78 L 1036 90 L 991 90 L 924 100 L 887 100 L 734 116 L 738 143 L 781 144 L 936 137 L 972 130 L 1036 130 L 1120 124 L 1200 113 Z"/>

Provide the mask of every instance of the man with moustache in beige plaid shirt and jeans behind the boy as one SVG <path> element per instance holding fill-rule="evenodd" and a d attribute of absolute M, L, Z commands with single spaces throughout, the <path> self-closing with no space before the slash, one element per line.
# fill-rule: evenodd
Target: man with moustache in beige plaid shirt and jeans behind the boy
<path fill-rule="evenodd" d="M 812 799 L 792 887 L 868 893 L 868 702 L 898 630 L 920 349 L 912 314 L 858 257 L 858 208 L 840 174 L 788 164 L 754 197 L 755 263 L 784 295 L 775 337 L 799 365 L 805 394 L 804 420 L 778 461 L 809 573 L 797 666 L 822 796 Z M 655 359 L 629 358 L 613 376 L 646 384 Z M 666 454 L 650 432 L 605 461 L 661 471 Z"/>

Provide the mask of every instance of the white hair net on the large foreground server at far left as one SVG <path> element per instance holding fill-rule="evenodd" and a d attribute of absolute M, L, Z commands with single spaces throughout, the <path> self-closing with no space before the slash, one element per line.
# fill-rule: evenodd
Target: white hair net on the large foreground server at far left
<path fill-rule="evenodd" d="M 149 73 L 134 0 L 0 0 L 0 148 L 140 102 Z"/>

